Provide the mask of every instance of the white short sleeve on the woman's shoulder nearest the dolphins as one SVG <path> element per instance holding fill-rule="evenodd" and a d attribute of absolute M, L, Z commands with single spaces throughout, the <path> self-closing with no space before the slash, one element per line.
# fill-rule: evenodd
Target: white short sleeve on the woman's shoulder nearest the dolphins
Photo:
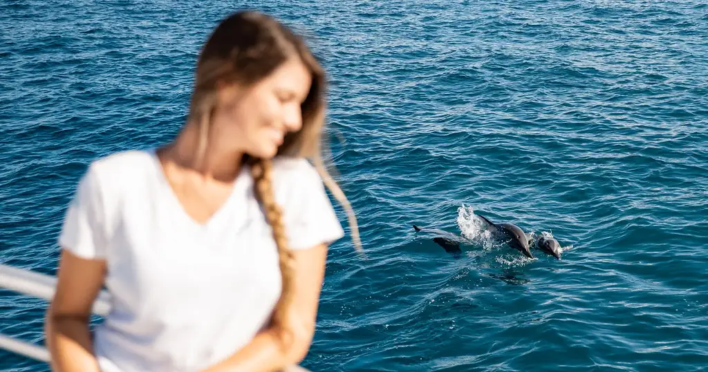
<path fill-rule="evenodd" d="M 329 245 L 344 236 L 333 205 L 324 188 L 324 182 L 315 168 L 306 160 L 297 164 L 290 173 L 287 187 L 289 197 L 285 203 L 285 229 L 293 250 L 312 248 L 324 243 Z"/>

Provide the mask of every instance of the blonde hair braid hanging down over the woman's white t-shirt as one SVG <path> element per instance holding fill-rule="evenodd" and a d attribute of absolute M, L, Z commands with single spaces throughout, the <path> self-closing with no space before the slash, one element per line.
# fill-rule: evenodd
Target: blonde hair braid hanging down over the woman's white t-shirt
<path fill-rule="evenodd" d="M 275 193 L 271 182 L 272 163 L 270 160 L 258 159 L 251 166 L 253 175 L 253 191 L 256 199 L 265 209 L 265 220 L 268 221 L 273 231 L 273 239 L 278 247 L 278 261 L 280 263 L 280 273 L 282 276 L 282 291 L 278 304 L 273 313 L 275 325 L 282 324 L 285 309 L 292 303 L 292 285 L 295 268 L 290 248 L 287 245 L 285 226 L 282 223 L 282 210 L 275 202 Z M 281 330 L 282 331 L 282 330 Z M 286 342 L 287 344 L 287 342 Z"/>

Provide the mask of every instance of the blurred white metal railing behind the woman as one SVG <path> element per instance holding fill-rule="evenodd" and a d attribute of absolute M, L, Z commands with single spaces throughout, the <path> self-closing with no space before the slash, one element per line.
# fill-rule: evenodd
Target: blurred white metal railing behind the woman
<path fill-rule="evenodd" d="M 38 298 L 51 301 L 54 296 L 57 278 L 50 275 L 34 272 L 32 270 L 18 269 L 8 265 L 0 265 L 0 288 L 9 289 L 19 293 L 24 293 Z M 110 310 L 110 294 L 101 291 L 98 298 L 93 303 L 93 313 L 106 315 Z M 27 356 L 49 363 L 50 355 L 47 349 L 29 342 L 24 342 L 13 337 L 0 334 L 0 348 L 12 351 L 13 353 Z M 300 366 L 290 366 L 285 369 L 287 372 L 309 372 Z"/>

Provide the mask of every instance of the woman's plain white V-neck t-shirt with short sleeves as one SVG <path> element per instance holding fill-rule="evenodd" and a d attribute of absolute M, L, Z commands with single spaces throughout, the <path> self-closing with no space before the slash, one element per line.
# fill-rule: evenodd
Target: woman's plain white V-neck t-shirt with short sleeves
<path fill-rule="evenodd" d="M 272 182 L 291 249 L 343 237 L 307 160 L 276 158 Z M 107 262 L 112 308 L 94 341 L 105 372 L 206 368 L 267 325 L 280 296 L 277 248 L 248 167 L 200 224 L 178 202 L 154 150 L 93 161 L 67 209 L 59 245 Z"/>

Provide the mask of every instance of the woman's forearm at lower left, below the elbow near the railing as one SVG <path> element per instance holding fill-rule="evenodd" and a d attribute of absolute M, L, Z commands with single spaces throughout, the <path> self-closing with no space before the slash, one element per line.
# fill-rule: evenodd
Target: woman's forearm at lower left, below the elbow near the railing
<path fill-rule="evenodd" d="M 93 354 L 89 320 L 47 314 L 45 337 L 55 372 L 99 372 Z"/>

